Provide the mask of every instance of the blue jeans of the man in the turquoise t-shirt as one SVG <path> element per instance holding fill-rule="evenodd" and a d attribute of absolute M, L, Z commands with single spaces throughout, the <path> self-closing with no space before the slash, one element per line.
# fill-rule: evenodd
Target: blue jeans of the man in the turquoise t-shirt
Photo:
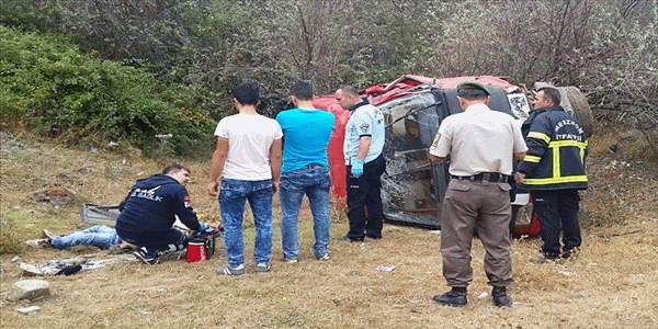
<path fill-rule="evenodd" d="M 308 197 L 313 213 L 315 245 L 313 253 L 322 257 L 329 246 L 331 178 L 329 169 L 311 163 L 302 169 L 284 172 L 281 175 L 279 198 L 281 200 L 281 245 L 283 254 L 288 259 L 299 257 L 297 222 L 304 194 Z"/>

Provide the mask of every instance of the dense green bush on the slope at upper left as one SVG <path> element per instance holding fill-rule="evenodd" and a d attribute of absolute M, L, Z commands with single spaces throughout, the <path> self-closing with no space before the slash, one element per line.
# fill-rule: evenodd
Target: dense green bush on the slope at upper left
<path fill-rule="evenodd" d="M 171 134 L 173 154 L 212 145 L 214 122 L 174 104 L 152 75 L 81 54 L 67 38 L 0 27 L 0 123 L 76 144 L 128 140 L 147 155 Z M 167 95 L 163 95 L 167 94 Z"/>

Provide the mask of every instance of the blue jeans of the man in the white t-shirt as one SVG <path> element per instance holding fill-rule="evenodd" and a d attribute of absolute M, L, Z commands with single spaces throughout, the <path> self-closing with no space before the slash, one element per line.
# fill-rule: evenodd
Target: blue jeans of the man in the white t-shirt
<path fill-rule="evenodd" d="M 272 181 L 222 180 L 219 208 L 226 257 L 231 268 L 245 263 L 242 214 L 246 201 L 249 201 L 256 225 L 253 261 L 266 263 L 272 258 Z"/>

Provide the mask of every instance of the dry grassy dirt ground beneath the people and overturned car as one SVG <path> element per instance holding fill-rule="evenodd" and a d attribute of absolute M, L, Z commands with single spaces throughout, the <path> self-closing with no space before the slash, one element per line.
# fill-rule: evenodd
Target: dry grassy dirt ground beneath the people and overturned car
<path fill-rule="evenodd" d="M 135 179 L 169 161 L 134 154 L 66 149 L 53 143 L 1 137 L 0 327 L 2 328 L 658 328 L 658 156 L 642 139 L 619 140 L 619 132 L 590 138 L 590 189 L 582 196 L 582 251 L 561 264 L 534 264 L 538 239 L 513 242 L 513 306 L 491 304 L 483 270 L 484 249 L 474 242 L 474 281 L 465 308 L 443 307 L 432 296 L 447 290 L 441 274 L 440 234 L 385 225 L 383 240 L 331 241 L 331 260 L 313 258 L 313 227 L 305 205 L 300 261 L 284 264 L 275 204 L 272 271 L 214 274 L 225 264 L 223 243 L 209 261 L 169 259 L 149 266 L 121 261 L 70 276 L 41 277 L 52 296 L 35 302 L 7 300 L 19 269 L 55 258 L 114 257 L 76 247 L 27 249 L 25 239 L 43 228 L 66 232 L 86 227 L 84 202 L 117 204 Z M 608 150 L 611 144 L 619 151 Z M 209 152 L 212 150 L 208 150 Z M 218 222 L 216 201 L 206 196 L 208 161 L 185 161 L 189 190 L 202 220 Z M 35 202 L 33 193 L 67 188 L 76 201 Z M 332 236 L 347 229 L 332 214 Z M 13 248 L 13 249 L 11 249 Z M 246 257 L 253 250 L 253 226 L 246 219 Z M 16 261 L 15 257 L 21 260 Z M 14 259 L 14 261 L 12 261 Z M 39 311 L 22 315 L 27 305 Z"/>

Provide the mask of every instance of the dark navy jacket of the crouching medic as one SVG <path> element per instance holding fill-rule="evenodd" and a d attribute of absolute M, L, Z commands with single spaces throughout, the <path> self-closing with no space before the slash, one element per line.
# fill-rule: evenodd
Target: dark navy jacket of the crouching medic
<path fill-rule="evenodd" d="M 116 219 L 116 228 L 135 234 L 167 232 L 173 226 L 175 216 L 188 228 L 200 228 L 188 190 L 164 174 L 138 180 L 118 209 L 121 214 Z"/>

